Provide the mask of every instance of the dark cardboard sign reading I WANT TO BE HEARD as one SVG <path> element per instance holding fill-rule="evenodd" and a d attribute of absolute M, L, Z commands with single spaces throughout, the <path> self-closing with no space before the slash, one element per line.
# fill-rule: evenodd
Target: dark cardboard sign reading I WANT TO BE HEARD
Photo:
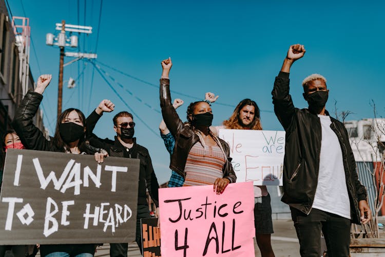
<path fill-rule="evenodd" d="M 9 149 L 0 245 L 131 242 L 139 159 Z"/>

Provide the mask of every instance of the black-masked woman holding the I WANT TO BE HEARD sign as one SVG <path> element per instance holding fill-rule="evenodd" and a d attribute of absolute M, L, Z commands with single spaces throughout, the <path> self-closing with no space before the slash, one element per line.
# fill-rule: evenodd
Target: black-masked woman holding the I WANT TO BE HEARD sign
<path fill-rule="evenodd" d="M 55 135 L 47 140 L 33 124 L 33 117 L 43 99 L 43 93 L 52 79 L 52 75 L 41 75 L 34 91 L 28 91 L 16 109 L 13 128 L 23 145 L 30 150 L 85 154 L 85 117 L 75 108 L 64 111 L 56 122 Z M 48 257 L 92 257 L 94 244 L 41 245 L 41 256 Z"/>

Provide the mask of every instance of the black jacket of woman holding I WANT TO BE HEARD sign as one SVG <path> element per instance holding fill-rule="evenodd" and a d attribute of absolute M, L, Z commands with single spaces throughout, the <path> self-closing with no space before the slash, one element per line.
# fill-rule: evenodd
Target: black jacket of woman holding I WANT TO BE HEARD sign
<path fill-rule="evenodd" d="M 12 122 L 13 129 L 16 131 L 26 149 L 63 152 L 52 143 L 52 140 L 47 140 L 43 133 L 33 124 L 33 117 L 42 99 L 43 96 L 41 94 L 28 91 L 23 101 L 16 108 L 15 117 Z M 40 252 L 41 256 L 52 252 L 67 252 L 73 255 L 90 253 L 93 255 L 95 246 L 94 244 L 41 245 Z"/>

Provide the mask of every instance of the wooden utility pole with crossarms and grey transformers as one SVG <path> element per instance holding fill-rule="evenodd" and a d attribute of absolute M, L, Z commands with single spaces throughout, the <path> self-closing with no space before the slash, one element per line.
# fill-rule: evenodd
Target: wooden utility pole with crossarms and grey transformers
<path fill-rule="evenodd" d="M 66 24 L 65 21 L 62 23 L 56 23 L 56 30 L 60 30 L 57 38 L 52 33 L 47 33 L 46 35 L 46 44 L 49 46 L 57 45 L 60 47 L 60 61 L 59 61 L 59 88 L 57 90 L 57 118 L 62 114 L 62 99 L 63 99 L 63 67 L 76 62 L 82 58 L 87 59 L 95 59 L 97 58 L 97 54 L 94 53 L 81 53 L 81 52 L 64 52 L 64 48 L 66 46 L 70 46 L 72 48 L 78 47 L 78 36 L 71 35 L 69 39 L 67 39 L 66 32 L 79 32 L 79 33 L 92 33 L 92 27 L 87 26 L 79 26 L 79 25 L 70 25 Z M 57 43 L 53 41 L 57 41 Z M 69 44 L 66 42 L 70 42 Z M 76 57 L 75 59 L 69 61 L 64 64 L 64 56 L 67 57 Z"/>

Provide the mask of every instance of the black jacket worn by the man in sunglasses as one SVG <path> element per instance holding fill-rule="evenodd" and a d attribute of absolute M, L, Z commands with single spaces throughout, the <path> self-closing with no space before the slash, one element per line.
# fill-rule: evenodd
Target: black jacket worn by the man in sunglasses
<path fill-rule="evenodd" d="M 96 123 L 100 119 L 99 114 L 93 111 L 87 117 L 87 132 L 89 143 L 95 148 L 102 148 L 108 152 L 109 156 L 137 158 L 140 159 L 139 171 L 139 188 L 138 188 L 138 205 L 147 205 L 146 188 L 150 194 L 156 207 L 159 207 L 158 201 L 158 179 L 152 168 L 152 162 L 148 150 L 140 144 L 137 144 L 136 138 L 133 138 L 133 146 L 131 149 L 125 148 L 117 137 L 112 141 L 108 138 L 101 139 L 92 133 Z"/>

